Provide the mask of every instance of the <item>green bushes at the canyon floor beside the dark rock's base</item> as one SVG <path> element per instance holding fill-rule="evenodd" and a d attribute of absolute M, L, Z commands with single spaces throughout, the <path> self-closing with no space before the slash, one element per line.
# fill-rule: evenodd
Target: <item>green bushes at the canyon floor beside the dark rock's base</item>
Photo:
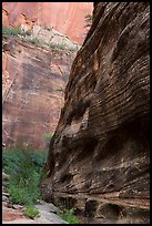
<path fill-rule="evenodd" d="M 20 145 L 2 152 L 2 170 L 10 175 L 7 184 L 10 202 L 24 205 L 24 215 L 31 218 L 39 216 L 34 204 L 42 199 L 39 183 L 45 157 L 44 152 Z"/>

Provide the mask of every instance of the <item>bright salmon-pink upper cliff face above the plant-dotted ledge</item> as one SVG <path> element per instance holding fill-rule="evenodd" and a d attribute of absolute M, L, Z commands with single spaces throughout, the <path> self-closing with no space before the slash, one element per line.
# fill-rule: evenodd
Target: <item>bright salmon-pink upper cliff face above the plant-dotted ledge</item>
<path fill-rule="evenodd" d="M 2 8 L 3 25 L 53 27 L 82 44 L 88 31 L 85 16 L 92 14 L 93 2 L 3 2 Z"/>

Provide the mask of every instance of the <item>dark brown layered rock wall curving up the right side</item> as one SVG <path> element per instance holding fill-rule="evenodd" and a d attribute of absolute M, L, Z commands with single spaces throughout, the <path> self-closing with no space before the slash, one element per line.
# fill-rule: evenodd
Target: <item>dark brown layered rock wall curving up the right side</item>
<path fill-rule="evenodd" d="M 44 166 L 47 201 L 88 223 L 149 223 L 148 2 L 95 2 Z"/>

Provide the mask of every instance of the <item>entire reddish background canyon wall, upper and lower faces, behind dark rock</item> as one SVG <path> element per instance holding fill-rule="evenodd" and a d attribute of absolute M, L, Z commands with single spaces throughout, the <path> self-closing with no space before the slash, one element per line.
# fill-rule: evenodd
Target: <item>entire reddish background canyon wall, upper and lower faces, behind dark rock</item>
<path fill-rule="evenodd" d="M 73 41 L 82 43 L 89 13 L 92 3 L 85 2 L 2 2 L 4 29 L 21 27 L 31 32 L 3 38 L 4 146 L 17 142 L 36 148 L 45 146 L 44 134 L 55 130 L 71 63 L 80 48 Z"/>

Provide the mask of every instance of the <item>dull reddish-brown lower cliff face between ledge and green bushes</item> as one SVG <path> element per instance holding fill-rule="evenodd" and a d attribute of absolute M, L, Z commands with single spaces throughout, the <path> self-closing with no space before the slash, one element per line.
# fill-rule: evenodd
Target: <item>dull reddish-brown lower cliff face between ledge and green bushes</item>
<path fill-rule="evenodd" d="M 75 53 L 38 48 L 19 38 L 3 38 L 2 137 L 44 148 L 63 106 L 63 91 Z"/>

